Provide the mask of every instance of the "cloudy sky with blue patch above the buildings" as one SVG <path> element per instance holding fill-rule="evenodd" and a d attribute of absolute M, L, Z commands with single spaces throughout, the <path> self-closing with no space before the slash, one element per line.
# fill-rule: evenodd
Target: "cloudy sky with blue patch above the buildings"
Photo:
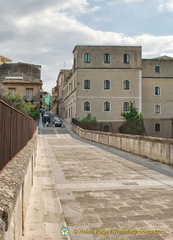
<path fill-rule="evenodd" d="M 173 57 L 173 0 L 0 0 L 0 55 L 42 65 L 51 92 L 75 45 L 141 45 Z"/>

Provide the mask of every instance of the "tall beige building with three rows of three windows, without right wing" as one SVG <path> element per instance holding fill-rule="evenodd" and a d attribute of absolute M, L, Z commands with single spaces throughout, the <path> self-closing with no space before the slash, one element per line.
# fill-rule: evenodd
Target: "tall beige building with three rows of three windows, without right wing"
<path fill-rule="evenodd" d="M 141 47 L 76 46 L 73 54 L 73 69 L 58 77 L 65 118 L 119 121 L 130 101 L 142 111 Z"/>

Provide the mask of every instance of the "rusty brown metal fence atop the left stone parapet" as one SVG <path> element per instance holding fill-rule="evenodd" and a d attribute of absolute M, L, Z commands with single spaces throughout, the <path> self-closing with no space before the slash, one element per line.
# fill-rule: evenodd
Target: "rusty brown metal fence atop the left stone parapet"
<path fill-rule="evenodd" d="M 27 144 L 36 122 L 0 99 L 0 171 Z"/>

